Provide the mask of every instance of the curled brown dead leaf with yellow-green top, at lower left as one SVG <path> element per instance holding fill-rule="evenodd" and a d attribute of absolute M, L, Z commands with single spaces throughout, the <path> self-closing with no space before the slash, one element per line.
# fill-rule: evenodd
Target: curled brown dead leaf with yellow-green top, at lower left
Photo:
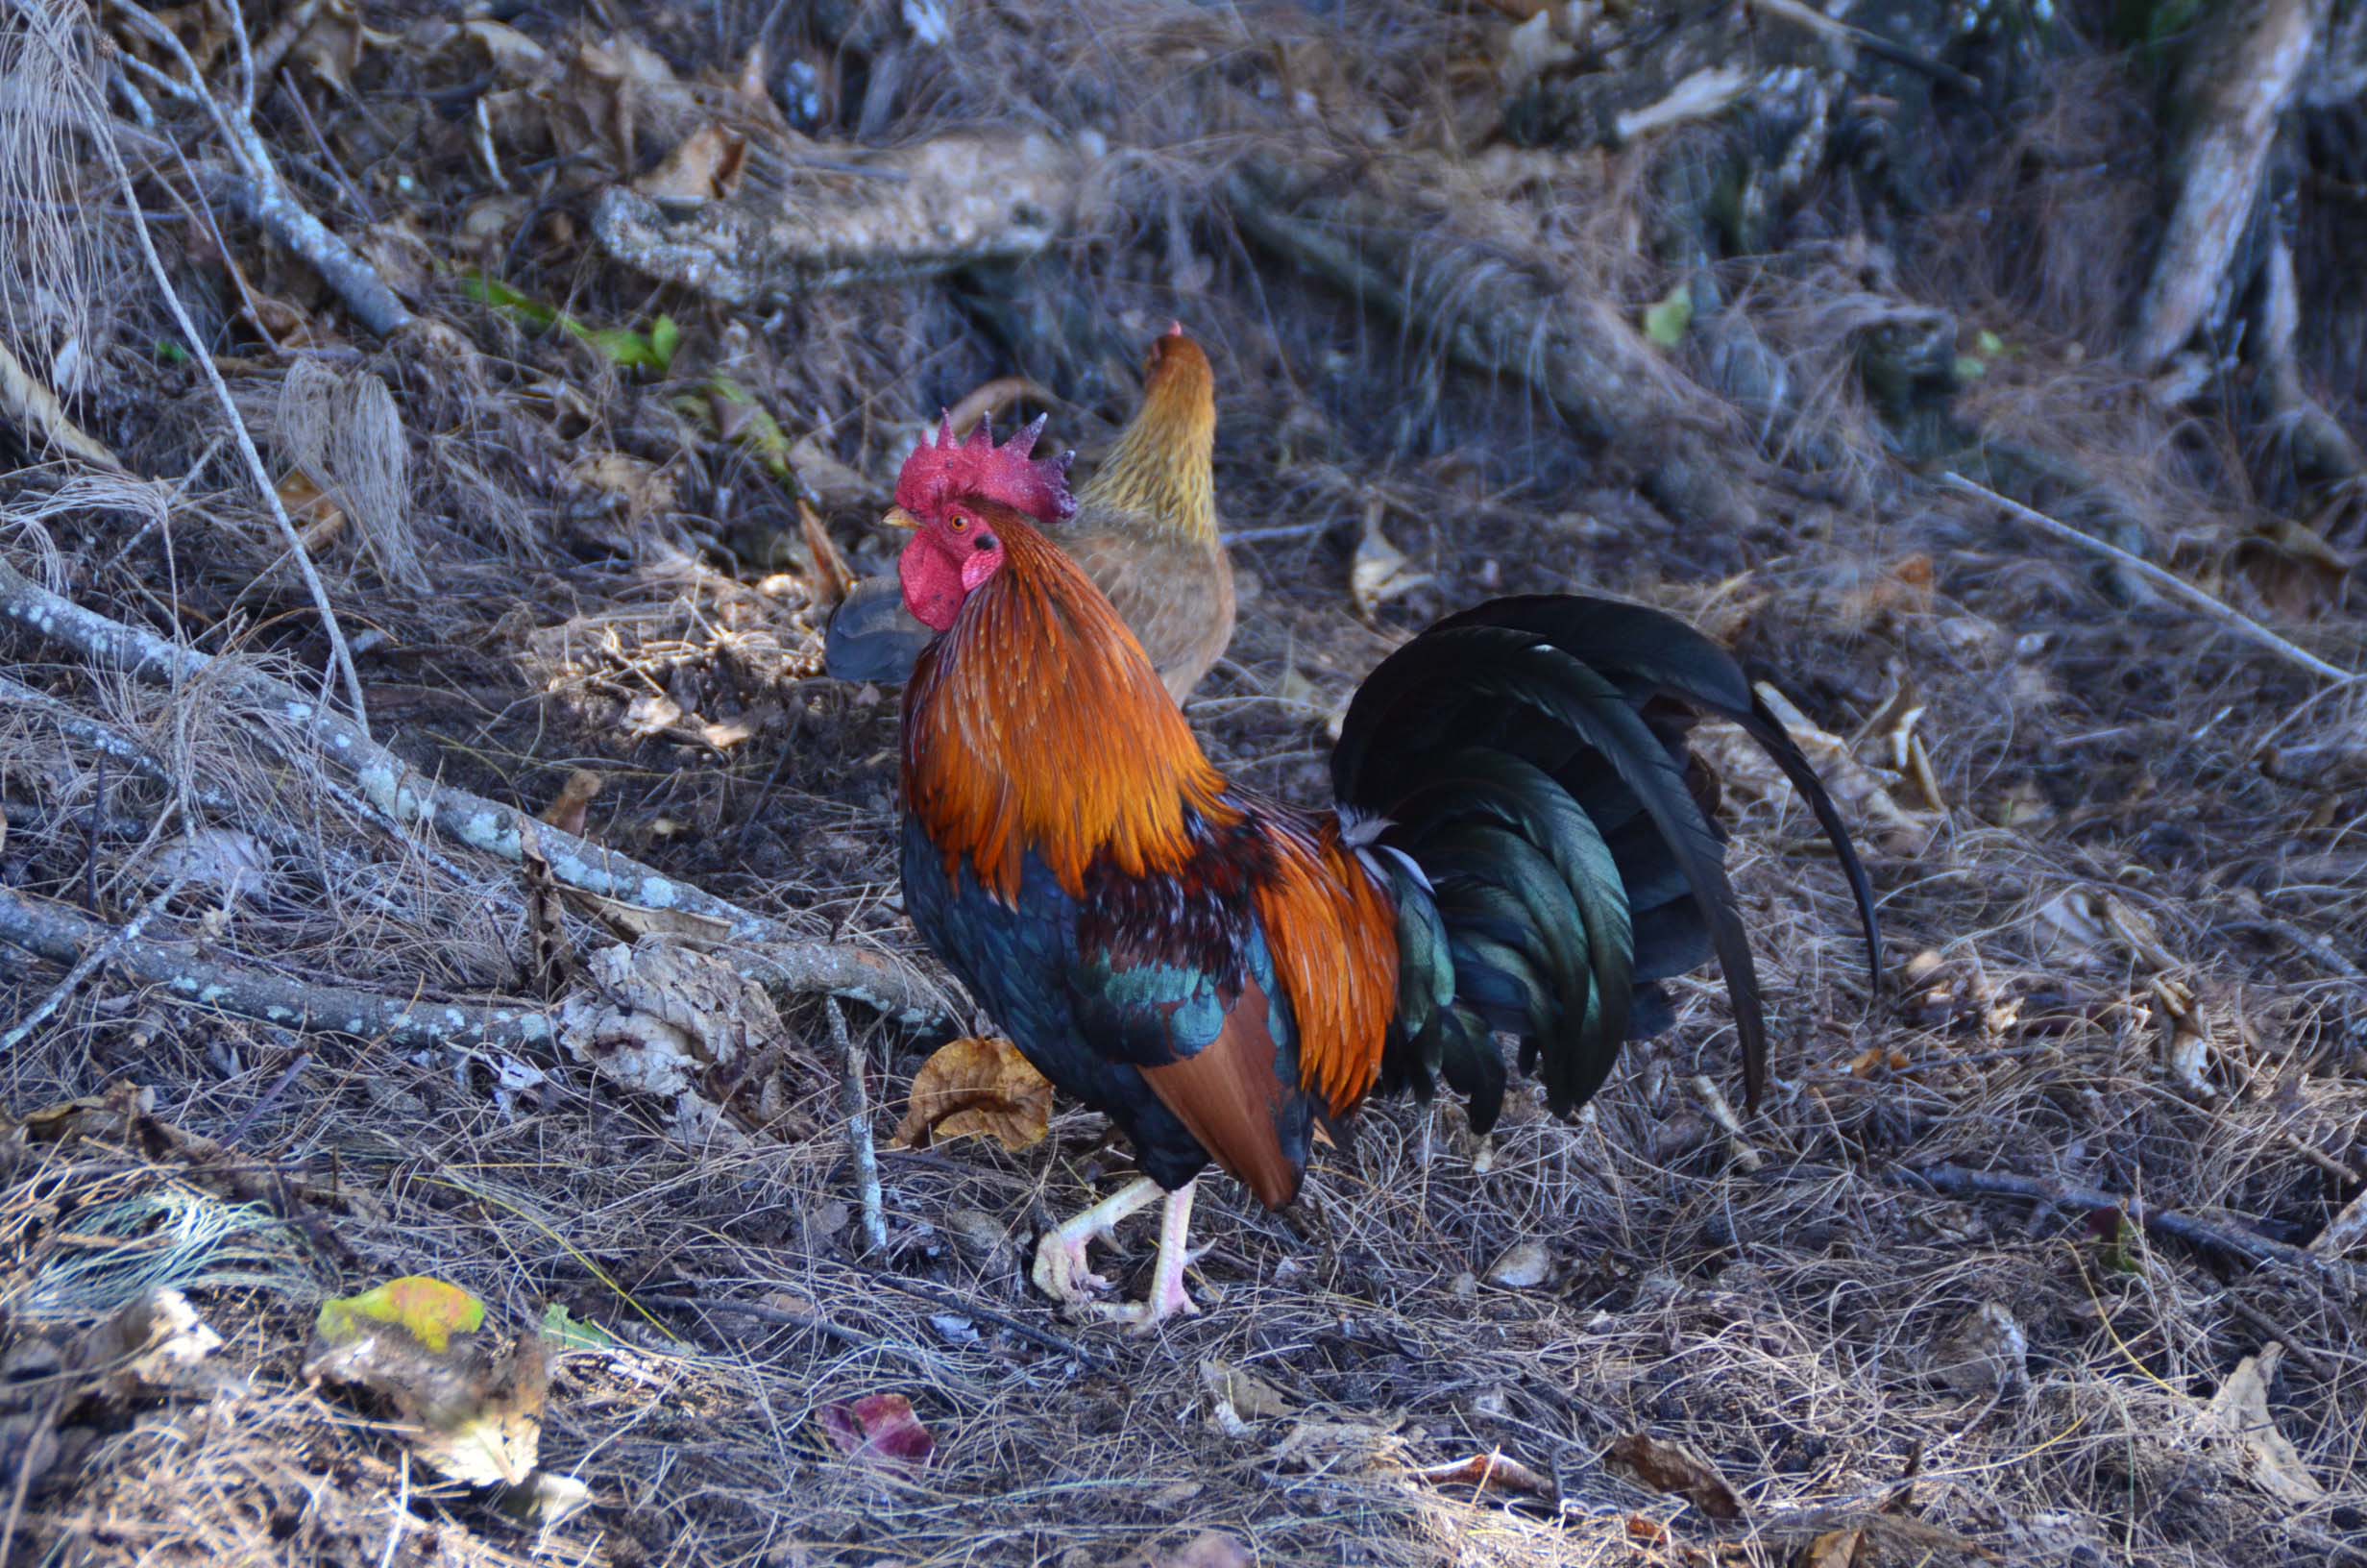
<path fill-rule="evenodd" d="M 485 1305 L 443 1279 L 407 1277 L 324 1303 L 303 1374 L 367 1390 L 412 1424 L 419 1457 L 469 1485 L 523 1485 L 542 1452 L 542 1341 L 509 1352 Z"/>

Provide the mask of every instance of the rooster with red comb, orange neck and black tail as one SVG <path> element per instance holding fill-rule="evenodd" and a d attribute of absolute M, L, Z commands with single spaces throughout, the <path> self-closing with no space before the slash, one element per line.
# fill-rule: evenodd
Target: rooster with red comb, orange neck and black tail
<path fill-rule="evenodd" d="M 1184 1236 L 1214 1161 L 1299 1191 L 1314 1127 L 1437 1080 L 1486 1130 L 1496 1030 L 1555 1113 L 1716 955 L 1744 1085 L 1766 1021 L 1697 711 L 1735 720 L 1813 808 L 1879 971 L 1872 893 L 1830 796 L 1735 661 L 1659 611 L 1494 599 L 1373 670 L 1333 751 L 1333 810 L 1231 784 L 1134 632 L 1034 519 L 1063 469 L 1025 443 L 914 452 L 892 523 L 904 602 L 937 632 L 904 689 L 904 905 L 1060 1090 L 1134 1142 L 1143 1180 L 1053 1229 L 1034 1281 L 1082 1303 L 1086 1246 L 1167 1194 L 1139 1326 L 1191 1312 Z"/>

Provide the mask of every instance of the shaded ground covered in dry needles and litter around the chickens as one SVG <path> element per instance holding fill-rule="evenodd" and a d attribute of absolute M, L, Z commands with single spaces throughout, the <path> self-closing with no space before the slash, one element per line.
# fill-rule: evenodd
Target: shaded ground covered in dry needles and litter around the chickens
<path fill-rule="evenodd" d="M 665 1078 L 0 940 L 0 1561 L 2367 1561 L 2367 687 L 2305 663 L 2367 668 L 2362 512 L 2246 403 L 2268 372 L 2166 400 L 2123 355 L 2168 45 L 1931 7 L 1972 95 L 1799 64 L 1775 12 L 1602 14 L 1621 81 L 1825 71 L 1806 156 L 1763 109 L 1520 130 L 1567 121 L 1536 83 L 1574 69 L 1505 85 L 1524 5 L 192 2 L 154 12 L 170 47 L 130 9 L 0 0 L 0 561 L 206 663 L 102 658 L 9 590 L 0 893 L 393 1011 L 556 1016 L 620 945 L 760 945 L 407 820 L 241 685 L 346 703 L 244 429 L 419 779 L 542 812 L 589 775 L 592 846 L 952 1007 L 734 992 L 731 1049 Z M 2298 374 L 2353 438 L 2360 121 L 2296 121 L 2291 230 Z M 225 194 L 249 128 L 407 324 Z M 918 189 L 840 166 L 980 128 L 1112 149 L 1049 244 L 729 301 L 606 239 L 618 185 L 821 211 L 783 192 Z M 1240 171 L 1276 161 L 1328 173 L 1257 208 Z M 883 1146 L 864 1244 L 831 1011 L 883 1144 L 985 1021 L 899 914 L 895 694 L 826 680 L 819 628 L 833 552 L 888 564 L 923 422 L 1023 374 L 1089 467 L 1172 317 L 1219 377 L 1243 609 L 1188 713 L 1224 767 L 1321 801 L 1356 680 L 1449 609 L 1650 602 L 1797 708 L 1889 966 L 1801 803 L 1709 730 L 1761 1113 L 1690 976 L 1574 1123 L 1375 1104 L 1290 1213 L 1207 1182 L 1202 1312 L 1134 1338 L 1027 1284 L 1131 1170 L 1075 1106 L 1020 1151 Z M 1122 1289 L 1150 1248 L 1120 1229 Z M 452 1480 L 308 1376 L 322 1303 L 398 1277 L 476 1296 L 488 1352 L 540 1331 L 540 1471 L 578 1506 Z M 92 1350 L 156 1289 L 220 1345 Z M 873 1395 L 925 1461 L 833 1440 Z"/>

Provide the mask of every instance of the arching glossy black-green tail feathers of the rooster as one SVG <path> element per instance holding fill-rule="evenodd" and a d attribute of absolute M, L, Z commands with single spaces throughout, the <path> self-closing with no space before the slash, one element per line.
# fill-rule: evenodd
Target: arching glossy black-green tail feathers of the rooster
<path fill-rule="evenodd" d="M 1700 713 L 1740 725 L 1839 853 L 1875 971 L 1872 886 L 1823 782 L 1742 668 L 1690 625 L 1579 595 L 1494 599 L 1392 654 L 1349 703 L 1333 789 L 1378 843 L 1399 907 L 1399 1028 L 1385 1085 L 1503 1104 L 1491 1030 L 1522 1040 L 1557 1113 L 1631 1037 L 1669 1023 L 1657 981 L 1716 955 L 1766 1082 L 1766 1016 L 1726 881 L 1714 779 L 1685 751 Z M 1394 857 L 1392 857 L 1394 860 Z"/>

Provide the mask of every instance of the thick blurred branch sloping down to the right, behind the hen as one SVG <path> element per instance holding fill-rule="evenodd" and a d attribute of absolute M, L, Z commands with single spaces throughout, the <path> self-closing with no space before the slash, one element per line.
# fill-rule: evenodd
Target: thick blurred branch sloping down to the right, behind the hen
<path fill-rule="evenodd" d="M 1515 265 L 1472 265 L 1470 246 L 1370 192 L 1316 192 L 1252 159 L 1226 180 L 1240 230 L 1363 306 L 1434 334 L 1468 369 L 1536 388 L 1581 433 L 1643 467 L 1645 493 L 1678 521 L 1742 531 L 1756 507 L 1714 452 L 1716 417 L 1624 320 Z"/>

